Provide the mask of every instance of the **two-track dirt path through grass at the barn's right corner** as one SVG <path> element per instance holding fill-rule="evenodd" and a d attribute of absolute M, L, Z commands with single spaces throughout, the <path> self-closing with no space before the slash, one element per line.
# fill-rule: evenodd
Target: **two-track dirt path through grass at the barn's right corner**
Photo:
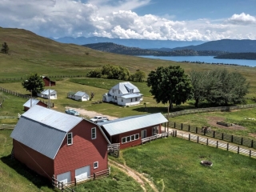
<path fill-rule="evenodd" d="M 137 181 L 142 189 L 146 191 L 145 189 L 145 182 L 147 182 L 152 190 L 155 192 L 158 192 L 157 188 L 154 186 L 154 183 L 151 182 L 148 178 L 146 178 L 143 174 L 139 174 L 136 170 L 131 169 L 129 166 L 119 164 L 118 162 L 114 162 L 113 160 L 109 159 L 110 165 L 117 166 L 118 169 L 122 170 L 126 174 L 128 174 L 130 177 L 134 178 L 135 181 Z"/>

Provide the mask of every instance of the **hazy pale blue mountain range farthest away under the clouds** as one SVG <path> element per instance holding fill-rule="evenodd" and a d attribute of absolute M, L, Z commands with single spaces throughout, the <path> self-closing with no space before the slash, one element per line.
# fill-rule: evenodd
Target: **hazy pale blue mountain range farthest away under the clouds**
<path fill-rule="evenodd" d="M 79 38 L 50 38 L 56 42 L 62 43 L 74 43 L 76 45 L 85 45 L 98 42 L 114 42 L 122 46 L 138 47 L 141 49 L 159 49 L 166 47 L 169 49 L 178 46 L 197 46 L 203 43 L 203 41 L 171 41 L 171 40 L 147 40 L 147 39 L 122 39 L 122 38 L 102 38 L 102 37 L 79 37 Z"/>

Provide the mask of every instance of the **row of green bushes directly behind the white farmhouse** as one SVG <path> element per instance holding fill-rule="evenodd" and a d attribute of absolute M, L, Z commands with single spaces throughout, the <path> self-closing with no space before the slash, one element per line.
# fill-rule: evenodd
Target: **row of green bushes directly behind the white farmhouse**
<path fill-rule="evenodd" d="M 130 71 L 126 67 L 107 64 L 102 66 L 102 68 L 90 70 L 86 76 L 89 78 L 110 78 L 123 81 L 142 82 L 146 77 L 146 74 L 142 70 L 136 70 L 134 74 L 130 74 Z"/>

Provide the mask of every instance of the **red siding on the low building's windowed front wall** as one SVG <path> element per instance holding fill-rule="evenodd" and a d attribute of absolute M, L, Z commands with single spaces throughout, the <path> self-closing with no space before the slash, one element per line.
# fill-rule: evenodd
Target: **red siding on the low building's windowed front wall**
<path fill-rule="evenodd" d="M 154 125 L 154 126 L 159 126 L 159 133 L 161 133 L 161 125 Z M 151 137 L 153 135 L 153 127 L 154 126 L 149 126 L 149 127 L 145 127 L 139 130 L 132 130 L 126 133 L 122 133 L 122 134 L 118 134 L 118 135 L 114 135 L 112 136 L 112 143 L 116 143 L 116 142 L 120 142 L 120 149 L 124 149 L 130 146 L 138 146 L 141 144 L 141 140 L 142 140 L 142 130 L 146 130 L 146 137 Z M 122 138 L 133 135 L 133 134 L 139 134 L 139 138 L 138 140 L 134 140 L 132 142 L 126 142 L 122 144 Z"/>

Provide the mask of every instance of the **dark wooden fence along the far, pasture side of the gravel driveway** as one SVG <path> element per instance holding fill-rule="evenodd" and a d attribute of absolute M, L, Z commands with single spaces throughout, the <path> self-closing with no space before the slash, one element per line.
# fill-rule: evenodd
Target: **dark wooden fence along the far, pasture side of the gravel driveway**
<path fill-rule="evenodd" d="M 194 134 L 203 134 L 211 138 L 221 139 L 226 142 L 233 142 L 241 146 L 247 146 L 256 149 L 256 141 L 249 138 L 242 138 L 233 134 L 224 134 L 217 131 L 206 132 L 206 129 L 202 131 L 202 128 L 197 126 L 190 126 L 178 122 L 169 122 L 169 126 L 179 130 L 185 130 Z"/>

